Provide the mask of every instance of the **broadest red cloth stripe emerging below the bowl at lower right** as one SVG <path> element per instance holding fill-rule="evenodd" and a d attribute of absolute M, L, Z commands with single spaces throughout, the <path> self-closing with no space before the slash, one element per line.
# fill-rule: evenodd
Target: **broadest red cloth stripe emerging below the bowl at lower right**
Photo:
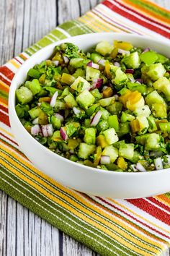
<path fill-rule="evenodd" d="M 143 198 L 139 199 L 130 199 L 127 200 L 132 205 L 144 210 L 146 213 L 150 214 L 151 216 L 157 218 L 158 220 L 170 225 L 170 214 L 165 213 L 164 210 L 157 208 L 155 205 L 152 205 L 150 202 L 146 201 Z"/>

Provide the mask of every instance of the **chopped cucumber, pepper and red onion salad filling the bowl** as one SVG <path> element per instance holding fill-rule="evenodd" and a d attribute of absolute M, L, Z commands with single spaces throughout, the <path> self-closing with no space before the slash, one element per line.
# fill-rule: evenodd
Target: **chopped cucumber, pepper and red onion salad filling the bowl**
<path fill-rule="evenodd" d="M 62 43 L 16 98 L 27 132 L 64 158 L 106 171 L 170 167 L 170 59 L 150 48 Z"/>

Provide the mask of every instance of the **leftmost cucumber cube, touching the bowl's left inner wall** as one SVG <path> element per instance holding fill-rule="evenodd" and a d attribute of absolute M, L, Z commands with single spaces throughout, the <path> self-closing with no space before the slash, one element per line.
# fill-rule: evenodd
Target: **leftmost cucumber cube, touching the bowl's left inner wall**
<path fill-rule="evenodd" d="M 22 105 L 29 103 L 33 98 L 32 91 L 24 86 L 16 90 L 16 96 L 17 101 L 19 101 L 19 103 Z"/>

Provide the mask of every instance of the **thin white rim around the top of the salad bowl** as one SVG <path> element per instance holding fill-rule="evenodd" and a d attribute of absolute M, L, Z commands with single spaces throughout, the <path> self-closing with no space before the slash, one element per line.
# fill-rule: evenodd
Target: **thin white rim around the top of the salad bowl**
<path fill-rule="evenodd" d="M 24 129 L 24 126 L 22 125 L 21 121 L 19 120 L 19 117 L 17 116 L 17 112 L 15 111 L 15 90 L 17 89 L 17 77 L 19 77 L 20 72 L 24 73 L 24 67 L 27 67 L 27 63 L 29 61 L 31 61 L 32 59 L 36 59 L 36 56 L 38 56 L 40 53 L 44 53 L 46 51 L 48 51 L 48 49 L 50 48 L 54 48 L 55 46 L 61 44 L 61 43 L 65 43 L 65 42 L 69 42 L 72 39 L 76 39 L 76 38 L 86 38 L 86 37 L 96 37 L 96 34 L 98 35 L 122 35 L 122 37 L 130 37 L 130 38 L 145 38 L 146 40 L 150 40 L 156 43 L 161 43 L 163 45 L 166 46 L 170 46 L 169 42 L 166 40 L 165 42 L 162 42 L 162 40 L 160 39 L 153 39 L 150 38 L 149 36 L 146 35 L 138 35 L 138 34 L 128 34 L 128 33 L 115 33 L 115 32 L 110 32 L 110 33 L 87 33 L 87 34 L 83 34 L 83 35 L 76 35 L 73 37 L 69 37 L 69 38 L 64 38 L 63 40 L 58 40 L 54 43 L 51 43 L 48 46 L 45 46 L 44 48 L 40 49 L 39 51 L 37 51 L 35 54 L 32 54 L 32 56 L 29 57 L 29 59 L 27 59 L 26 61 L 24 61 L 24 63 L 22 64 L 21 67 L 19 67 L 19 69 L 17 70 L 17 73 L 14 75 L 12 82 L 11 82 L 11 86 L 10 86 L 10 90 L 9 90 L 9 121 L 10 121 L 10 115 L 14 115 L 14 119 L 17 122 L 17 125 L 19 125 L 19 127 L 22 129 L 22 132 L 24 134 L 24 136 L 27 137 L 27 140 L 30 140 L 30 142 L 32 143 L 36 143 L 38 147 L 40 147 L 40 150 L 45 150 L 45 153 L 47 153 L 47 155 L 51 155 L 52 157 L 55 157 L 56 160 L 60 160 L 60 161 L 66 161 L 67 163 L 72 164 L 73 166 L 79 167 L 81 170 L 86 170 L 88 169 L 89 171 L 93 171 L 94 173 L 100 173 L 100 174 L 104 174 L 104 175 L 112 175 L 112 176 L 149 176 L 152 174 L 160 174 L 163 171 L 170 171 L 170 168 L 164 168 L 161 170 L 154 170 L 154 171 L 145 171 L 145 172 L 123 172 L 123 171 L 105 171 L 103 169 L 100 168 L 94 168 L 94 167 L 90 167 L 90 166 L 84 166 L 81 163 L 76 163 L 73 162 L 67 158 L 64 158 L 61 155 L 58 155 L 57 153 L 54 153 L 53 151 L 49 150 L 48 148 L 46 148 L 45 146 L 41 145 L 40 142 L 38 142 L 37 140 L 35 140 L 34 137 L 32 137 L 32 135 L 30 135 L 29 132 L 27 132 L 26 129 Z M 129 40 L 129 39 L 128 39 Z"/>

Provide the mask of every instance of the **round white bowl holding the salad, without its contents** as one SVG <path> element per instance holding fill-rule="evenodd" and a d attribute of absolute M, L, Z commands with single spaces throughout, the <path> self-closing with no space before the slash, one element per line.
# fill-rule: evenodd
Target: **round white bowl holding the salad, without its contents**
<path fill-rule="evenodd" d="M 94 33 L 78 35 L 51 44 L 30 57 L 12 80 L 9 92 L 9 119 L 19 148 L 42 172 L 61 184 L 91 195 L 113 198 L 138 198 L 158 195 L 170 190 L 170 168 L 145 173 L 104 171 L 83 166 L 57 155 L 37 142 L 24 127 L 15 111 L 15 90 L 24 82 L 27 71 L 35 64 L 48 59 L 55 46 L 63 42 L 75 43 L 85 51 L 101 40 L 129 41 L 134 46 L 151 47 L 169 56 L 170 44 L 160 40 L 125 33 Z M 169 56 L 170 57 L 170 56 Z"/>

